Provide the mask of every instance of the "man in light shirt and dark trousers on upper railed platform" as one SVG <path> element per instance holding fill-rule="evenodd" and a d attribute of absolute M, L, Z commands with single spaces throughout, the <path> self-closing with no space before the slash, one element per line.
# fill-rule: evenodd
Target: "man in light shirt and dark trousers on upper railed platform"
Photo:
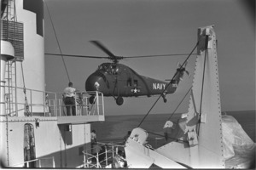
<path fill-rule="evenodd" d="M 68 82 L 68 87 L 64 89 L 64 103 L 67 108 L 67 116 L 71 116 L 70 108 L 72 108 L 72 115 L 76 116 L 75 91 L 76 88 L 73 88 L 73 82 Z"/>

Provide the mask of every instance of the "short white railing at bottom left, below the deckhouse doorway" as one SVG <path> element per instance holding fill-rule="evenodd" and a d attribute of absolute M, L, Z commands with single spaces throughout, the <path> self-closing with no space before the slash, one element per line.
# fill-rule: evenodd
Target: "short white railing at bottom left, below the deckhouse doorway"
<path fill-rule="evenodd" d="M 30 161 L 24 161 L 22 163 L 19 164 L 15 164 L 15 165 L 11 165 L 9 167 L 30 167 L 30 163 L 35 162 L 35 167 L 49 167 L 44 165 L 44 163 L 42 163 L 42 160 L 51 160 L 52 161 L 52 166 L 53 168 L 55 168 L 55 157 L 42 157 L 39 159 L 34 159 L 34 160 L 30 160 Z"/>

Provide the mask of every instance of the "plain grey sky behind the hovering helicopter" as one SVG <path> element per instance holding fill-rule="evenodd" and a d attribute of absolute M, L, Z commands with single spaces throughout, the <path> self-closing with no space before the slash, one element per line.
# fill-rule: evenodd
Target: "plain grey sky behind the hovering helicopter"
<path fill-rule="evenodd" d="M 222 111 L 255 110 L 255 15 L 245 0 L 45 0 L 45 53 L 106 56 L 91 40 L 102 42 L 113 54 L 137 56 L 189 54 L 197 42 L 197 29 L 214 25 L 218 39 L 218 73 Z M 255 4 L 253 5 L 255 7 Z M 49 20 L 53 20 L 53 26 Z M 57 40 L 60 43 L 58 48 Z M 120 63 L 146 77 L 170 79 L 181 56 L 126 59 Z M 74 88 L 84 83 L 106 59 L 64 57 Z M 193 75 L 195 57 L 189 59 Z M 68 78 L 61 57 L 45 55 L 46 90 L 61 93 Z M 150 114 L 172 113 L 192 84 L 184 77 L 175 94 L 166 96 Z M 147 114 L 156 97 L 125 98 L 116 105 L 105 97 L 105 115 Z M 186 98 L 177 112 L 187 112 Z"/>

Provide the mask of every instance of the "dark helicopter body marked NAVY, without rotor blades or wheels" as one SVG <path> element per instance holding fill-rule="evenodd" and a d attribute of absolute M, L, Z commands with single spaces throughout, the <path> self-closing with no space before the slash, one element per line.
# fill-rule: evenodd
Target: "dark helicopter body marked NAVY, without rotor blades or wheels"
<path fill-rule="evenodd" d="M 121 64 L 103 63 L 88 77 L 86 91 L 100 91 L 104 96 L 132 97 L 172 94 L 177 88 L 177 81 L 169 82 L 144 77 L 130 67 Z M 168 87 L 167 87 L 168 86 Z M 166 89 L 166 90 L 165 90 Z M 165 90 L 165 91 L 164 91 Z"/>

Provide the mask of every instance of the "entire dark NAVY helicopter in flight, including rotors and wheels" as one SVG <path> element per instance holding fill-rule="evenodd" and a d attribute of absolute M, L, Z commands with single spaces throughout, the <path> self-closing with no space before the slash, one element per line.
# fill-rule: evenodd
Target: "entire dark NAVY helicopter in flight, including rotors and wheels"
<path fill-rule="evenodd" d="M 95 59 L 110 59 L 112 62 L 102 63 L 97 70 L 93 72 L 85 81 L 85 90 L 87 92 L 99 91 L 104 96 L 112 96 L 116 100 L 117 105 L 123 105 L 124 97 L 139 97 L 160 94 L 166 103 L 166 94 L 173 94 L 178 83 L 183 78 L 183 73 L 186 72 L 189 75 L 189 71 L 185 70 L 185 65 L 178 65 L 177 73 L 172 78 L 170 84 L 166 81 L 157 80 L 151 77 L 144 77 L 138 74 L 127 65 L 119 64 L 119 60 L 128 58 L 143 58 L 143 57 L 157 57 L 157 56 L 170 56 L 170 55 L 186 55 L 186 54 L 164 54 L 164 55 L 145 55 L 134 57 L 122 57 L 116 56 L 111 53 L 101 42 L 90 41 L 97 48 L 102 49 L 108 57 L 99 56 L 85 56 L 85 55 L 73 55 L 73 54 L 49 54 L 69 57 L 84 57 Z M 168 85 L 169 84 L 169 85 Z M 90 93 L 89 93 L 90 94 Z M 90 104 L 93 104 L 95 96 L 91 94 Z"/>

